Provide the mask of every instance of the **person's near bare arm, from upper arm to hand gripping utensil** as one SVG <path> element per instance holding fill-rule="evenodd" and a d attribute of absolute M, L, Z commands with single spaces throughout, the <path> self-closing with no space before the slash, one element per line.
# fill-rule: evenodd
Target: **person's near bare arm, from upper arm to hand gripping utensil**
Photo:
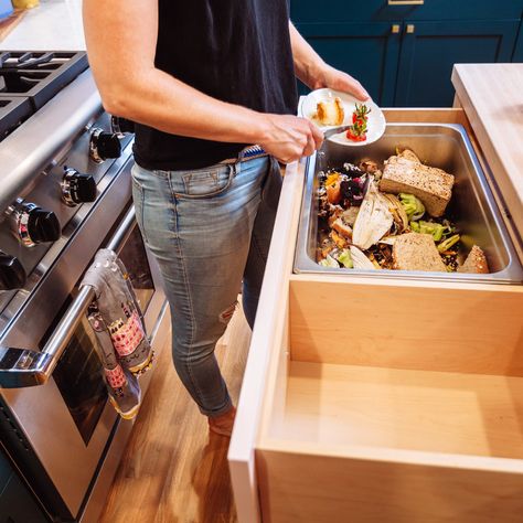
<path fill-rule="evenodd" d="M 83 9 L 89 64 L 108 113 L 174 135 L 259 143 L 284 162 L 321 143 L 303 118 L 217 100 L 156 68 L 158 0 L 84 0 Z"/>

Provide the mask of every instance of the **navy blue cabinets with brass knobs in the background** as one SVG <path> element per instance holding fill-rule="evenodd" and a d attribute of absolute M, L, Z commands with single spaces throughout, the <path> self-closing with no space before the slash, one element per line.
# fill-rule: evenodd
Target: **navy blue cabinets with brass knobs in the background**
<path fill-rule="evenodd" d="M 291 20 L 325 62 L 398 107 L 451 106 L 455 63 L 523 62 L 522 11 L 523 0 L 291 1 Z"/>

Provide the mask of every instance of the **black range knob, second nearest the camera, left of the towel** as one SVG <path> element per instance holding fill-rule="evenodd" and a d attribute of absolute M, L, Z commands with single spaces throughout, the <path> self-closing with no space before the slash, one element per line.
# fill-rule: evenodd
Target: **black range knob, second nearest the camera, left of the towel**
<path fill-rule="evenodd" d="M 55 242 L 62 235 L 56 214 L 34 203 L 18 200 L 13 209 L 14 233 L 26 247 Z"/>

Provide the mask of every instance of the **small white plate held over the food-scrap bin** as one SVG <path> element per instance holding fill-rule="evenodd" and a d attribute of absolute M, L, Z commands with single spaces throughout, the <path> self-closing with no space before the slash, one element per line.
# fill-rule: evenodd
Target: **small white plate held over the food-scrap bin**
<path fill-rule="evenodd" d="M 343 119 L 344 126 L 349 126 L 352 124 L 352 113 L 355 109 L 355 105 L 357 104 L 365 104 L 370 109 L 371 113 L 369 114 L 367 120 L 367 132 L 366 132 L 366 140 L 365 141 L 352 141 L 346 138 L 345 132 L 341 132 L 340 135 L 334 135 L 329 138 L 331 141 L 335 141 L 337 143 L 341 143 L 343 146 L 367 146 L 373 141 L 378 140 L 382 135 L 385 132 L 386 121 L 385 117 L 383 116 L 382 109 L 374 104 L 372 100 L 361 102 L 354 96 L 348 93 L 341 93 L 339 90 L 332 89 L 317 89 L 309 93 L 303 103 L 301 104 L 301 116 L 305 118 L 309 118 L 309 120 L 313 121 L 320 129 L 327 130 L 331 127 L 335 126 L 320 126 L 318 120 L 314 119 L 314 115 L 317 113 L 317 106 L 319 102 L 327 102 L 333 100 L 335 97 L 339 97 L 343 104 L 343 109 L 345 111 L 345 117 Z"/>

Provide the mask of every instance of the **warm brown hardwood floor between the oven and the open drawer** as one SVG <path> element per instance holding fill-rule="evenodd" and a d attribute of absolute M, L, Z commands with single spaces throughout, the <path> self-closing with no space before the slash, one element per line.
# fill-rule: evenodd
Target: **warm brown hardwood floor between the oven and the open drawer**
<path fill-rule="evenodd" d="M 216 348 L 236 404 L 250 339 L 242 310 Z M 210 434 L 163 348 L 100 523 L 236 522 L 228 438 Z"/>

